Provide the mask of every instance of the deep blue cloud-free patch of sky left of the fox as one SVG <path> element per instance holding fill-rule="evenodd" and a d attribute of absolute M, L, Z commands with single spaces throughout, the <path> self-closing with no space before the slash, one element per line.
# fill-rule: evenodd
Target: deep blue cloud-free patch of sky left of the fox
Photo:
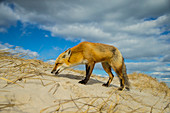
<path fill-rule="evenodd" d="M 37 52 L 38 59 L 55 59 L 64 50 L 77 45 L 80 41 L 69 41 L 60 37 L 52 37 L 49 31 L 37 28 L 36 25 L 23 26 L 21 22 L 0 33 L 1 44 L 19 46 L 25 50 Z"/>

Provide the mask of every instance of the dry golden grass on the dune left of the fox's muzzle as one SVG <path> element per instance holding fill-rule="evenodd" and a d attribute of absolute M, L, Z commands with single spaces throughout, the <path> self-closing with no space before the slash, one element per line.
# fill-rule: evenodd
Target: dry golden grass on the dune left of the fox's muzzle
<path fill-rule="evenodd" d="M 40 77 L 42 75 L 50 76 L 42 72 L 42 69 L 51 68 L 50 64 L 41 60 L 25 59 L 23 58 L 25 56 L 26 54 L 23 53 L 12 54 L 5 50 L 0 50 L 0 79 L 7 81 L 7 85 L 17 84 L 17 81 L 27 78 Z M 41 78 L 39 79 L 42 80 Z"/>

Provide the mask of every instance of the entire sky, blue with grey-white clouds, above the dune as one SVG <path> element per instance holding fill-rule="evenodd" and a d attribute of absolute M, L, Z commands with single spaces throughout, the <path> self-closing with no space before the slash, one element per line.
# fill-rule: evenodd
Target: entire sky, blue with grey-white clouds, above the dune
<path fill-rule="evenodd" d="M 169 0 L 2 0 L 0 49 L 52 61 L 82 41 L 105 43 L 120 49 L 128 73 L 168 82 L 169 20 Z"/>

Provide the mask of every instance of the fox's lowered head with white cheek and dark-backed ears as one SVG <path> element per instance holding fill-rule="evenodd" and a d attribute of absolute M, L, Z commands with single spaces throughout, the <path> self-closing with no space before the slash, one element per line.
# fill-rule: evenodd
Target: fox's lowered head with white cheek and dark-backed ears
<path fill-rule="evenodd" d="M 56 71 L 55 74 L 58 74 L 61 71 L 63 71 L 64 69 L 71 67 L 71 63 L 69 62 L 70 56 L 71 56 L 71 50 L 70 49 L 61 53 L 58 56 L 58 58 L 56 59 L 54 68 L 51 71 L 51 73 L 54 73 Z"/>

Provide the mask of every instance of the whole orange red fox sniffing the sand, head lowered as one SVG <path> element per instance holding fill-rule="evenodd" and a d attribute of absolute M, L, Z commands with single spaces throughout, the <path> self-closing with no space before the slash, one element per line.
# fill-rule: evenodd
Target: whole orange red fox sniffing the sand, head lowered
<path fill-rule="evenodd" d="M 126 73 L 124 58 L 120 51 L 111 45 L 81 42 L 77 46 L 66 50 L 58 56 L 51 73 L 56 71 L 55 74 L 58 74 L 66 68 L 85 64 L 86 77 L 79 81 L 79 83 L 86 84 L 90 78 L 95 63 L 98 62 L 101 62 L 104 70 L 109 75 L 109 80 L 107 83 L 104 83 L 103 86 L 108 87 L 112 82 L 114 75 L 111 72 L 111 68 L 113 68 L 120 80 L 119 90 L 124 90 L 124 88 L 129 90 L 129 80 Z"/>

